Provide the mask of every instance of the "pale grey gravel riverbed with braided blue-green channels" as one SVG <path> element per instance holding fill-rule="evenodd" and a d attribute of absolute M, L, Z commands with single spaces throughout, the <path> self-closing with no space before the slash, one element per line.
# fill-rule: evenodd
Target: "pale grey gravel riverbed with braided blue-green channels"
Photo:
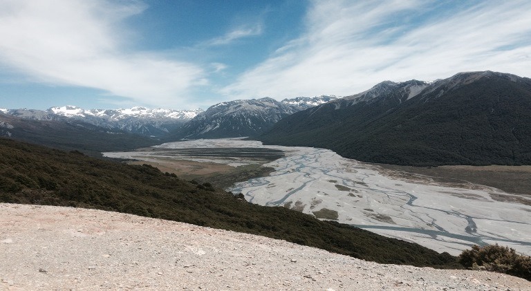
<path fill-rule="evenodd" d="M 286 156 L 265 162 L 178 154 L 179 149 L 192 148 L 281 149 Z M 223 139 L 172 142 L 157 146 L 156 152 L 155 158 L 159 160 L 225 165 L 260 163 L 274 168 L 269 176 L 239 182 L 230 188 L 234 193 L 243 193 L 251 203 L 290 207 L 454 255 L 474 244 L 486 243 L 509 245 L 518 252 L 531 254 L 529 196 L 507 194 L 473 183 L 447 185 L 427 176 L 404 175 L 342 158 L 326 149 L 263 146 L 256 141 Z M 106 156 L 150 162 L 154 158 L 149 151 Z"/>

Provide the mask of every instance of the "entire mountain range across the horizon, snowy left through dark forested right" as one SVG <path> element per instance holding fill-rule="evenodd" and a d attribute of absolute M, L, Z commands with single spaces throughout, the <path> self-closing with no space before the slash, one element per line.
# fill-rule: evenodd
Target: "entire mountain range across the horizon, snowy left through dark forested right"
<path fill-rule="evenodd" d="M 100 133 L 104 138 L 98 142 Z M 222 102 L 206 111 L 0 109 L 0 135 L 90 151 L 111 144 L 130 149 L 126 140 L 149 145 L 250 136 L 393 165 L 531 165 L 531 79 L 468 72 L 433 82 L 385 81 L 340 98 L 264 97 Z M 84 147 L 76 136 L 91 137 L 86 140 L 91 145 Z"/>

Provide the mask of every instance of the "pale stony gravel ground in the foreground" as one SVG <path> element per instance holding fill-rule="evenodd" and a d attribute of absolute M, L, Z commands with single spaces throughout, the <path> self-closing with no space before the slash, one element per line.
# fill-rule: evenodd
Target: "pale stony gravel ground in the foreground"
<path fill-rule="evenodd" d="M 0 290 L 531 290 L 116 212 L 0 204 Z"/>

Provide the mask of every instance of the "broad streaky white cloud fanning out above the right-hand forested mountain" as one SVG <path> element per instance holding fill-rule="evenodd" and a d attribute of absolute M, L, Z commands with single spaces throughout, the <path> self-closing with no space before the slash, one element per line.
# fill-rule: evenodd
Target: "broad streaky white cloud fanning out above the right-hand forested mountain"
<path fill-rule="evenodd" d="M 359 93 L 386 79 L 460 71 L 529 75 L 530 1 L 314 1 L 306 32 L 221 93 Z M 459 7 L 460 6 L 460 7 Z"/>

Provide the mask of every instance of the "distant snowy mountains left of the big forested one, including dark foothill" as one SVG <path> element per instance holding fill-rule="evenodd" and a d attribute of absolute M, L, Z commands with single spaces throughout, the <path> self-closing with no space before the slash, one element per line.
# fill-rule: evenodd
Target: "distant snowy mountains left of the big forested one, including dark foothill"
<path fill-rule="evenodd" d="M 203 133 L 193 138 L 246 136 L 263 133 L 280 118 L 302 109 L 333 100 L 335 96 L 297 97 L 281 102 L 271 98 L 236 100 L 203 110 L 82 109 L 57 106 L 46 111 L 36 109 L 0 109 L 0 136 L 25 140 L 59 149 L 78 149 L 97 156 L 100 151 L 129 150 L 172 142 L 183 138 L 179 129 L 206 124 Z M 193 122 L 191 122 L 193 120 Z M 212 122 L 232 124 L 233 131 L 218 131 Z M 219 127 L 219 126 L 218 126 Z M 212 131 L 211 131 L 212 129 Z M 234 131 L 238 133 L 235 134 Z M 201 131 L 200 131 L 201 133 Z M 216 135 L 218 134 L 218 135 Z M 187 134 L 187 138 L 192 138 Z"/>

